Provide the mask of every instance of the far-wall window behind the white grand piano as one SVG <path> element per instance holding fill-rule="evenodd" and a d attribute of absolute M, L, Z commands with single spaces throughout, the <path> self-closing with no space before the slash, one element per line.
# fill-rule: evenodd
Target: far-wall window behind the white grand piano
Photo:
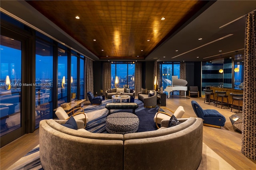
<path fill-rule="evenodd" d="M 180 78 L 179 62 L 162 62 L 160 63 L 160 83 L 165 89 L 168 85 L 172 85 L 172 76 L 177 75 Z M 179 91 L 174 91 L 172 95 L 179 95 Z"/>

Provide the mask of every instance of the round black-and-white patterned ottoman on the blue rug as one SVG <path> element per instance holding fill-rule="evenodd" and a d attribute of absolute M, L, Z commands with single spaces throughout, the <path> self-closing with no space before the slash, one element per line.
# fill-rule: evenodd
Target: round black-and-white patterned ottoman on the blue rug
<path fill-rule="evenodd" d="M 106 119 L 106 130 L 115 134 L 134 133 L 137 132 L 139 123 L 139 118 L 133 113 L 112 113 Z"/>

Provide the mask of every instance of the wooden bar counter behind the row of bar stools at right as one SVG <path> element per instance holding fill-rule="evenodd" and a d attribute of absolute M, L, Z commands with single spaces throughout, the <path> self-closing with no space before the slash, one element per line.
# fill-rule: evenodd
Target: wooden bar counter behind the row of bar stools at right
<path fill-rule="evenodd" d="M 230 89 L 230 88 L 220 88 L 220 87 L 210 87 L 210 90 L 213 90 L 215 100 L 217 99 L 217 94 L 215 93 L 215 91 L 226 91 L 226 95 L 228 95 L 228 103 L 229 104 L 232 104 L 232 95 L 230 95 L 230 93 L 236 93 L 236 94 L 244 93 L 244 91 L 240 90 L 240 89 Z M 211 99 L 213 99 L 212 96 L 211 96 Z M 218 101 L 221 101 L 221 97 L 218 98 Z M 224 102 L 226 102 L 226 101 L 224 101 Z M 238 102 L 234 101 L 233 104 L 238 105 Z M 243 103 L 240 102 L 240 106 L 242 106 L 242 105 L 243 105 Z"/>

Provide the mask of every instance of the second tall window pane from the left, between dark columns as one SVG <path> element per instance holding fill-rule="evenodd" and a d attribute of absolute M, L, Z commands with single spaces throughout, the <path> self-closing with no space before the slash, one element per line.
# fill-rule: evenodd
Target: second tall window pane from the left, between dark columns
<path fill-rule="evenodd" d="M 42 119 L 52 118 L 52 45 L 36 40 L 36 127 Z"/>

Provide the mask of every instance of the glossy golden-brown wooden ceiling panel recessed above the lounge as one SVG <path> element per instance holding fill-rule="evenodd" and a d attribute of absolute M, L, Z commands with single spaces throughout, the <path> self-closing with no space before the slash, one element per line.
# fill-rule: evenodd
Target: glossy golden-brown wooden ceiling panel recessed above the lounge
<path fill-rule="evenodd" d="M 208 1 L 28 0 L 26 2 L 99 59 L 145 59 Z M 80 19 L 76 19 L 76 16 Z M 165 17 L 165 20 L 161 20 L 162 17 Z M 72 44 L 68 45 L 72 47 Z"/>

